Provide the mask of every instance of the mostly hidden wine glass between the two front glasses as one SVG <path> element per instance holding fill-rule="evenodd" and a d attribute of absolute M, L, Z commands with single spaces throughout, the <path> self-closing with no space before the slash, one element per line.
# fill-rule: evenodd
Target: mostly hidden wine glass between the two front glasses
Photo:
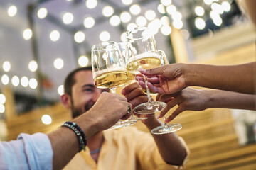
<path fill-rule="evenodd" d="M 118 47 L 121 51 L 121 54 L 122 54 L 122 57 L 123 57 L 124 61 L 126 61 L 125 60 L 125 55 L 127 54 L 127 42 L 118 42 L 117 44 L 118 44 Z M 135 80 L 135 74 L 132 74 L 131 72 L 127 71 L 127 76 L 128 76 L 128 81 L 125 84 L 123 84 L 123 87 L 127 86 L 129 84 L 132 84 L 134 82 L 137 82 Z M 132 115 L 128 119 L 128 121 L 134 121 L 134 120 L 139 121 L 139 120 L 145 120 L 145 119 L 147 119 L 147 118 L 137 118 L 137 117 L 135 117 L 134 113 L 132 112 Z"/>

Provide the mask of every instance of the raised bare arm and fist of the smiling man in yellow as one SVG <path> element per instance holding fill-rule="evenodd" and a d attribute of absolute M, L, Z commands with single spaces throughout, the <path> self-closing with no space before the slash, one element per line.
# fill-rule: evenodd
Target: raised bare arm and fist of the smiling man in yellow
<path fill-rule="evenodd" d="M 146 94 L 142 91 L 142 88 L 139 84 L 129 84 L 122 90 L 122 94 L 127 97 L 127 101 L 132 103 L 132 107 L 144 103 L 147 101 Z M 148 119 L 142 120 L 142 123 L 146 125 L 149 130 L 152 130 L 160 125 L 162 125 L 159 120 L 156 120 L 155 115 L 139 115 L 146 116 Z M 186 149 L 181 144 L 181 141 L 178 140 L 178 137 L 175 133 L 169 133 L 166 135 L 153 135 L 156 145 L 159 149 L 161 157 L 165 162 L 173 165 L 183 164 L 183 160 L 186 158 Z"/>

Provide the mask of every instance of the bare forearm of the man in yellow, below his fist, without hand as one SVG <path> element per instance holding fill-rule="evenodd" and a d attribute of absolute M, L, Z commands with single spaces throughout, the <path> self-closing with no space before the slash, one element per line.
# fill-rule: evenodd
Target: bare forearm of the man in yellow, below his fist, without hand
<path fill-rule="evenodd" d="M 151 125 L 147 125 L 149 131 L 157 126 L 162 125 L 158 120 Z M 173 165 L 183 164 L 183 160 L 186 158 L 186 149 L 178 140 L 176 133 L 169 133 L 165 135 L 152 135 L 159 149 L 159 153 L 165 162 Z"/>

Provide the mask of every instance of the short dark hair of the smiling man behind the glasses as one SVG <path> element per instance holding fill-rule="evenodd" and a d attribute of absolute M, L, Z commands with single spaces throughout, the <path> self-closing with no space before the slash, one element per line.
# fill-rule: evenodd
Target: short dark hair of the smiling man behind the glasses
<path fill-rule="evenodd" d="M 70 72 L 70 74 L 68 74 L 68 76 L 65 78 L 64 81 L 64 92 L 65 94 L 68 94 L 71 96 L 72 94 L 72 86 L 75 84 L 75 73 L 80 72 L 82 70 L 90 70 L 92 71 L 92 67 L 91 66 L 87 66 L 87 67 L 80 67 L 78 69 L 74 69 L 72 72 Z"/>

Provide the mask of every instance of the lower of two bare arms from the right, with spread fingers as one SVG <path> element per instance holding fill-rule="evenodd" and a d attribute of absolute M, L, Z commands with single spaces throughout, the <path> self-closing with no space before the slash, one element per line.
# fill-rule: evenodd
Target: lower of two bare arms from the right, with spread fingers
<path fill-rule="evenodd" d="M 252 94 L 240 94 L 233 91 L 197 90 L 187 87 L 176 94 L 159 94 L 156 100 L 167 102 L 167 107 L 161 111 L 160 118 L 171 108 L 178 105 L 178 108 L 166 118 L 166 123 L 169 123 L 183 111 L 203 111 L 207 108 L 255 110 L 256 96 Z"/>

